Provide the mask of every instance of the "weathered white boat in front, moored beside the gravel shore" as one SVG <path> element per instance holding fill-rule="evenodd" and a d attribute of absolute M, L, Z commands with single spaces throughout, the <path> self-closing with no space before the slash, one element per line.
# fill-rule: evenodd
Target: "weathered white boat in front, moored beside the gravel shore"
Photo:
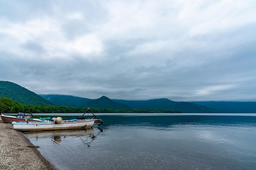
<path fill-rule="evenodd" d="M 14 130 L 17 131 L 53 131 L 67 129 L 91 128 L 94 119 L 56 122 L 12 122 Z"/>

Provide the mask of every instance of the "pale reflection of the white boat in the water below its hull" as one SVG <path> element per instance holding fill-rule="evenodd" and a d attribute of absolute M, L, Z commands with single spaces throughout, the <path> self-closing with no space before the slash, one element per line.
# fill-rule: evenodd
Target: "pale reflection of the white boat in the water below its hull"
<path fill-rule="evenodd" d="M 94 134 L 94 131 L 92 128 L 88 128 L 88 129 L 74 129 L 74 130 L 24 132 L 23 134 L 29 138 L 65 137 L 65 136 L 78 137 L 78 136 Z"/>

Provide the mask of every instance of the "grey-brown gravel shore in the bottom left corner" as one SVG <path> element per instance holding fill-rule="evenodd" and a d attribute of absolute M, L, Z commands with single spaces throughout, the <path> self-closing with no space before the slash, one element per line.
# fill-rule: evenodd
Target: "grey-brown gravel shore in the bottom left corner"
<path fill-rule="evenodd" d="M 25 135 L 0 121 L 1 170 L 56 170 Z"/>

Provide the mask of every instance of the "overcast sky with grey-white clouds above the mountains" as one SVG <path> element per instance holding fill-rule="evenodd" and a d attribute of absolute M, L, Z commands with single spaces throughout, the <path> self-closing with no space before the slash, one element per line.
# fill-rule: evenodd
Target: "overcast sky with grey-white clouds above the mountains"
<path fill-rule="evenodd" d="M 256 101 L 256 1 L 0 0 L 0 81 L 90 99 Z"/>

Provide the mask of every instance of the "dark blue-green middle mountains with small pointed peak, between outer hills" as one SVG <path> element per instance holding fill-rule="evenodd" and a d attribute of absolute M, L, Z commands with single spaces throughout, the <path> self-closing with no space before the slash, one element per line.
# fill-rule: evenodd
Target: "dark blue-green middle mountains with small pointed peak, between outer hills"
<path fill-rule="evenodd" d="M 218 110 L 189 102 L 174 102 L 167 98 L 152 100 L 117 100 L 102 96 L 98 99 L 80 98 L 63 95 L 43 95 L 43 98 L 60 106 L 92 107 L 101 109 L 142 109 L 142 110 L 178 110 L 183 113 L 219 113 Z M 76 101 L 76 102 L 74 102 Z M 83 101 L 83 102 L 82 102 Z"/>

